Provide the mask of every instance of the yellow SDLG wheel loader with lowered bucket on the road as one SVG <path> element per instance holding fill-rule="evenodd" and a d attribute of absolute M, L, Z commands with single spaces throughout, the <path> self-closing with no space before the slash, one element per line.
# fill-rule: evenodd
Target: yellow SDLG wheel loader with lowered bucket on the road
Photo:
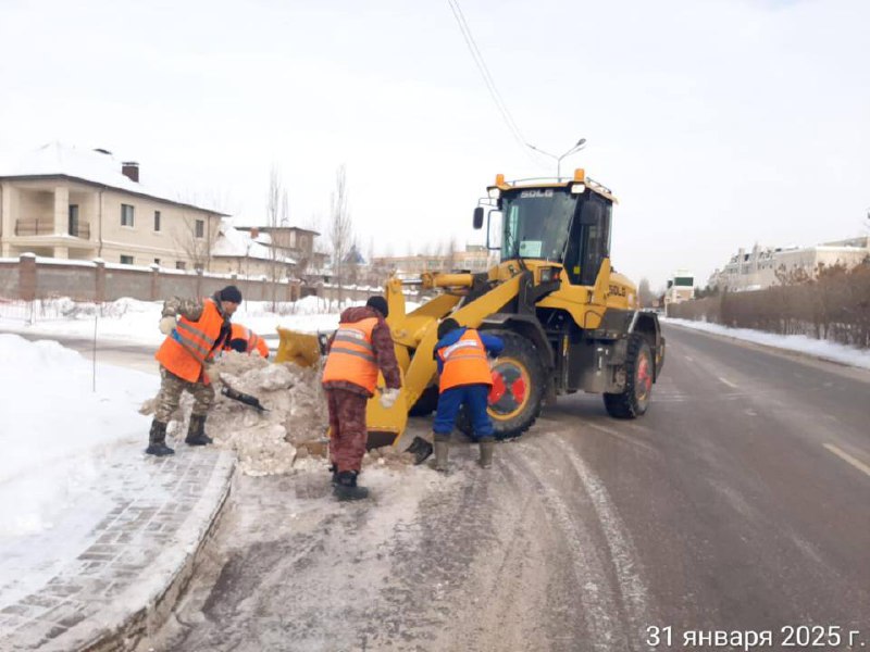
<path fill-rule="evenodd" d="M 438 293 L 410 313 L 402 280 L 386 284 L 403 386 L 388 410 L 376 397 L 369 401 L 370 448 L 397 443 L 409 414 L 435 409 L 433 350 L 447 316 L 505 341 L 489 393 L 499 439 L 527 430 L 542 404 L 558 394 L 601 393 L 607 412 L 618 418 L 647 410 L 664 338 L 656 313 L 639 309 L 635 286 L 610 265 L 613 195 L 583 170 L 571 179 L 508 183 L 498 175 L 487 190 L 473 226 L 486 225 L 487 248 L 500 254 L 497 265 L 481 274 L 424 273 L 413 283 Z M 278 330 L 277 362 L 316 363 L 322 341 Z M 464 415 L 459 427 L 470 432 Z"/>

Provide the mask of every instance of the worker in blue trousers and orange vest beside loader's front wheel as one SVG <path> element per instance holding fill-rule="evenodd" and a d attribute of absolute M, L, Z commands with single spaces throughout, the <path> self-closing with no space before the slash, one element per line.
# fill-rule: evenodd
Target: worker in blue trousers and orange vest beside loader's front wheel
<path fill-rule="evenodd" d="M 493 464 L 495 438 L 486 412 L 493 373 L 486 354 L 498 355 L 504 349 L 501 338 L 462 327 L 453 318 L 438 324 L 438 342 L 433 354 L 440 376 L 438 408 L 432 424 L 436 471 L 447 471 L 450 434 L 463 404 L 471 416 L 474 440 L 480 443 L 480 464 L 484 468 Z"/>

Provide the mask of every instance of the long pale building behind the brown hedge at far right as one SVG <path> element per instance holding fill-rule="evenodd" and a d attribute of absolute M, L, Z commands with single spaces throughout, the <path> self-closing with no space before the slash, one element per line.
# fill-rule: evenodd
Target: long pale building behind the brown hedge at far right
<path fill-rule="evenodd" d="M 820 266 L 845 265 L 854 267 L 870 255 L 870 237 L 861 236 L 824 242 L 815 247 L 761 248 L 750 251 L 739 249 L 722 269 L 716 269 L 708 280 L 711 288 L 738 292 L 760 290 L 779 285 L 781 279 L 806 274 L 818 274 Z"/>

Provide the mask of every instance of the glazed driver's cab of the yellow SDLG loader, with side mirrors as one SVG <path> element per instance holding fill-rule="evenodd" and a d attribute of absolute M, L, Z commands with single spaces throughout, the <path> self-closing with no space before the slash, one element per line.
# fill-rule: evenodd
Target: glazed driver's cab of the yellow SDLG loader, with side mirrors
<path fill-rule="evenodd" d="M 534 259 L 558 263 L 572 285 L 595 284 L 602 261 L 610 255 L 613 200 L 609 193 L 585 183 L 569 183 L 502 186 L 497 195 L 493 198 L 497 211 L 489 212 L 487 243 L 499 250 L 502 262 Z M 492 223 L 499 217 L 500 225 Z M 482 226 L 483 208 L 478 206 L 474 227 Z"/>

